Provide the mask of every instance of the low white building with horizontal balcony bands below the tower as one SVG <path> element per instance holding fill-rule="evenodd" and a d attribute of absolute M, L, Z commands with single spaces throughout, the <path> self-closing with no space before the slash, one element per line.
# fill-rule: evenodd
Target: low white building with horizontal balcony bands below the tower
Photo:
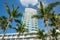
<path fill-rule="evenodd" d="M 2 40 L 2 35 L 3 34 L 0 34 L 0 40 Z M 24 33 L 24 34 L 20 34 L 18 40 L 35 40 L 34 37 L 36 36 L 37 36 L 36 33 Z M 17 38 L 18 38 L 18 33 L 8 33 L 4 37 L 5 40 L 17 40 Z"/>

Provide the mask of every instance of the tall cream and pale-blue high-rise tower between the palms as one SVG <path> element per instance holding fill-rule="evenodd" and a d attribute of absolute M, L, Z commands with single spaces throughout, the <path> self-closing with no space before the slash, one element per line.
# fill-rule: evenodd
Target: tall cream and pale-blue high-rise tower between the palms
<path fill-rule="evenodd" d="M 29 32 L 36 32 L 38 29 L 38 21 L 36 18 L 32 18 L 33 15 L 36 15 L 37 11 L 32 8 L 25 8 L 25 14 L 23 17 L 23 23 L 25 23 L 25 28 L 29 30 Z"/>

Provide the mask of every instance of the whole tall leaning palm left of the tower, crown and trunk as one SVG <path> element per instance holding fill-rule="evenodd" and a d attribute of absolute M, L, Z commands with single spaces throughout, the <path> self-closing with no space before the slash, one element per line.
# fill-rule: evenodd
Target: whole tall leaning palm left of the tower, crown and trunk
<path fill-rule="evenodd" d="M 15 8 L 14 8 L 14 5 L 12 5 L 12 10 L 10 10 L 10 8 L 9 8 L 9 6 L 8 6 L 7 3 L 5 3 L 5 6 L 6 6 L 7 13 L 8 13 L 8 15 L 9 15 L 9 18 L 8 18 L 9 20 L 8 20 L 7 27 L 6 27 L 6 30 L 5 30 L 5 32 L 4 32 L 4 35 L 5 35 L 5 33 L 7 32 L 7 29 L 8 29 L 8 27 L 9 27 L 10 23 L 11 23 L 13 20 L 15 20 L 16 18 L 22 16 L 22 14 L 18 12 L 19 7 L 17 7 L 17 8 L 15 9 Z M 4 35 L 3 35 L 2 39 L 4 39 Z"/>

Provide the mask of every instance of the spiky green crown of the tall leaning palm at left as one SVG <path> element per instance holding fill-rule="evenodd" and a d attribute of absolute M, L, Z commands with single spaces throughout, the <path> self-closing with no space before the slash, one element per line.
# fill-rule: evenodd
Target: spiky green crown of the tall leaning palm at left
<path fill-rule="evenodd" d="M 17 8 L 14 8 L 14 5 L 12 4 L 12 11 L 10 10 L 7 3 L 5 3 L 7 13 L 9 15 L 9 21 L 12 22 L 13 19 L 16 19 L 18 17 L 22 17 L 22 14 L 18 11 L 19 6 Z"/>

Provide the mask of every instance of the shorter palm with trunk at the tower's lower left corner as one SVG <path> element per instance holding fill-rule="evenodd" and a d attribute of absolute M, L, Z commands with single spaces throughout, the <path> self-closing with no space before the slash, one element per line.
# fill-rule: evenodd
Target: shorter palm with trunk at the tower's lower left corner
<path fill-rule="evenodd" d="M 24 32 L 28 32 L 28 29 L 25 28 L 25 24 L 23 24 L 21 20 L 16 19 L 15 22 L 17 23 L 17 27 L 12 27 L 12 28 L 15 29 L 16 32 L 18 32 L 17 40 L 19 40 L 20 35 L 22 35 Z"/>

